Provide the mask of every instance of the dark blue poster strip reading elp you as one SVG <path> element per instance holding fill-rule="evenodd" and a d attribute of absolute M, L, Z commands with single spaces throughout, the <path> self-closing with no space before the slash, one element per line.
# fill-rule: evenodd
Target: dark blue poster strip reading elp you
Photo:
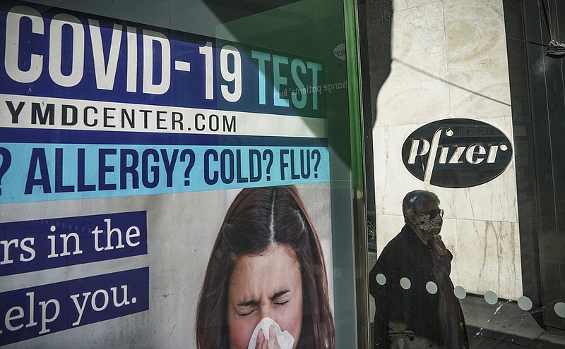
<path fill-rule="evenodd" d="M 149 309 L 149 269 L 0 293 L 0 345 Z"/>

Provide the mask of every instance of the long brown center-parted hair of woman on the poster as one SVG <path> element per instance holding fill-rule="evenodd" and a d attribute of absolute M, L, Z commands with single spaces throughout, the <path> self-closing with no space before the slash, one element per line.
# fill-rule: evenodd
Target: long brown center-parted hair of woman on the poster
<path fill-rule="evenodd" d="M 328 280 L 316 230 L 294 186 L 246 188 L 227 210 L 208 259 L 196 310 L 199 349 L 229 348 L 227 294 L 234 265 L 275 244 L 290 247 L 302 274 L 302 331 L 297 348 L 335 346 Z"/>

